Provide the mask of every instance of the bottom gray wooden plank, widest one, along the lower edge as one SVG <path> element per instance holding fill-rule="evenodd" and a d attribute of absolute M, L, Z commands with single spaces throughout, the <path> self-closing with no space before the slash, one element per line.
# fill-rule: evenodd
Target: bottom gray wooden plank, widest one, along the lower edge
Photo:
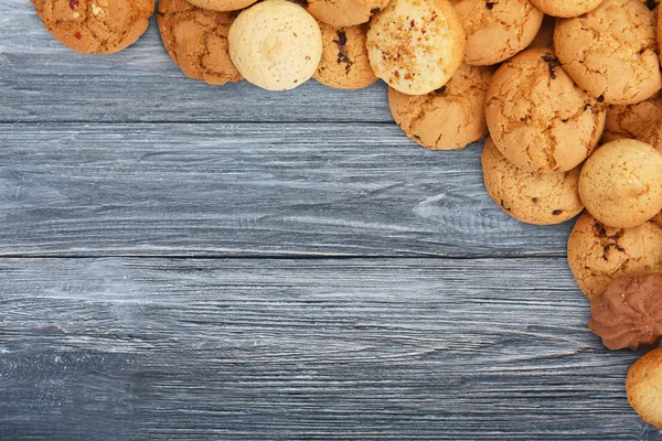
<path fill-rule="evenodd" d="M 2 439 L 660 440 L 560 258 L 0 259 Z"/>

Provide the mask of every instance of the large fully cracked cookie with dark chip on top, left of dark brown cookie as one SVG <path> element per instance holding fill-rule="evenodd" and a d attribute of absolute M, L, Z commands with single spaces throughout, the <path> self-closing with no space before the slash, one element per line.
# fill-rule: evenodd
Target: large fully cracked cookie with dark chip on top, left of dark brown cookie
<path fill-rule="evenodd" d="M 540 47 L 499 67 L 485 116 L 501 153 L 530 172 L 573 170 L 605 127 L 605 107 L 573 83 L 551 50 Z"/>

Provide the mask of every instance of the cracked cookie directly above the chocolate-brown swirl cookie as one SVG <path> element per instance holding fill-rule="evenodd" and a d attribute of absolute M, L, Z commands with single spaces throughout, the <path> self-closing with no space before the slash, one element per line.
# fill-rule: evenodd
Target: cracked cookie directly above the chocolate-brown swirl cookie
<path fill-rule="evenodd" d="M 617 277 L 662 272 L 662 216 L 634 228 L 611 228 L 583 214 L 568 239 L 568 263 L 588 298 Z"/>

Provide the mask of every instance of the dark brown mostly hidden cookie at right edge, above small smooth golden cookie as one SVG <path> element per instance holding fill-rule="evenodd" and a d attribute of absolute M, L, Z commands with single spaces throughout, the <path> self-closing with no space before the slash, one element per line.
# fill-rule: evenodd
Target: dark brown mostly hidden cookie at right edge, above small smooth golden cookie
<path fill-rule="evenodd" d="M 649 142 L 652 126 L 662 119 L 662 95 L 631 105 L 608 105 L 601 143 L 629 138 Z M 655 146 L 653 146 L 655 147 Z"/>

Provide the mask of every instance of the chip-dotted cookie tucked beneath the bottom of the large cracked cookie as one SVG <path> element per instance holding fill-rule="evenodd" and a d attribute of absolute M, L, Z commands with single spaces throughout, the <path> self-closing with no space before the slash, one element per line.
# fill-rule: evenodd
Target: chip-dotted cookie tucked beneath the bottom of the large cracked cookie
<path fill-rule="evenodd" d="M 554 225 L 572 219 L 584 209 L 577 194 L 579 168 L 569 172 L 527 172 L 510 163 L 488 138 L 482 170 L 490 196 L 517 220 Z"/>

